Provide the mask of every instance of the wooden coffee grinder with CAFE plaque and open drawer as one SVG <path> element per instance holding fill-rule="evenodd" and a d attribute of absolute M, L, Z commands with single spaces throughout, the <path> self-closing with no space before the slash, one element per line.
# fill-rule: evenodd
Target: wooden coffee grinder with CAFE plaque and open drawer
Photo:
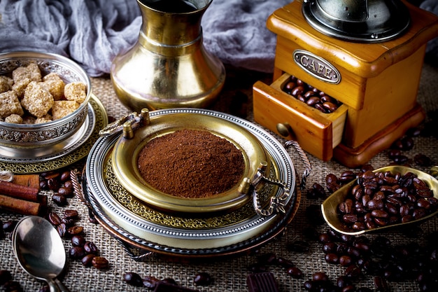
<path fill-rule="evenodd" d="M 424 120 L 416 95 L 436 15 L 400 0 L 295 0 L 267 28 L 274 82 L 253 86 L 255 121 L 316 158 L 359 167 Z M 341 105 L 323 113 L 296 99 L 290 76 Z"/>

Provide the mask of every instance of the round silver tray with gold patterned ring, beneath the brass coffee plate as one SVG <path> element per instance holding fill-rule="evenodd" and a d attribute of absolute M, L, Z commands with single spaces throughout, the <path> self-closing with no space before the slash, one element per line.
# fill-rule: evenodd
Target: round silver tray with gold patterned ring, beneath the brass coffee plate
<path fill-rule="evenodd" d="M 269 153 L 271 175 L 284 181 L 291 190 L 284 213 L 260 216 L 252 203 L 217 214 L 170 214 L 153 209 L 129 193 L 115 176 L 111 162 L 118 134 L 101 137 L 87 158 L 83 174 L 83 192 L 88 206 L 101 225 L 139 257 L 148 253 L 171 256 L 211 257 L 239 253 L 267 242 L 283 231 L 297 211 L 300 199 L 292 160 L 271 134 L 257 125 L 225 113 L 201 109 L 165 109 L 150 116 L 176 113 L 201 113 L 232 122 L 260 140 Z M 191 127 L 193 127 L 191 125 Z M 261 204 L 281 188 L 267 184 L 260 190 Z M 138 252 L 137 252 L 138 251 Z M 143 251 L 146 251 L 144 253 Z"/>

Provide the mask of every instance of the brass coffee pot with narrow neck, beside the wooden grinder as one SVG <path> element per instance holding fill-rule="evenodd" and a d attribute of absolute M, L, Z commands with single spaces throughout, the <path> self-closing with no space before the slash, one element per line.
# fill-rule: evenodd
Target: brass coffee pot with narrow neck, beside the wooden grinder
<path fill-rule="evenodd" d="M 201 27 L 211 1 L 137 0 L 139 40 L 111 67 L 115 92 L 128 109 L 204 108 L 216 99 L 225 68 L 205 50 Z"/>

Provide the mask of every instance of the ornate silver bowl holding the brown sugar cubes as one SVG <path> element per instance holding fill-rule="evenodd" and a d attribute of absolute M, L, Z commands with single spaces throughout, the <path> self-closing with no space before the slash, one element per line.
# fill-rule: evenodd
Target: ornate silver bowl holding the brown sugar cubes
<path fill-rule="evenodd" d="M 0 75 L 10 74 L 15 68 L 36 62 L 43 75 L 57 73 L 64 81 L 82 82 L 87 87 L 87 97 L 79 108 L 59 120 L 36 125 L 23 125 L 0 121 L 0 145 L 13 148 L 38 148 L 50 146 L 71 137 L 87 117 L 91 97 L 91 81 L 76 62 L 62 55 L 33 51 L 0 53 Z"/>

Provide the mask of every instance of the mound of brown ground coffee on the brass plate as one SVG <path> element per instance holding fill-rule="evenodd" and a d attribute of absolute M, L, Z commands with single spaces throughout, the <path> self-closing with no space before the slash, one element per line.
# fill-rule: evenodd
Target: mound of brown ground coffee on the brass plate
<path fill-rule="evenodd" d="M 178 197 L 211 197 L 239 183 L 243 153 L 206 130 L 178 130 L 148 141 L 139 172 L 150 186 Z"/>

